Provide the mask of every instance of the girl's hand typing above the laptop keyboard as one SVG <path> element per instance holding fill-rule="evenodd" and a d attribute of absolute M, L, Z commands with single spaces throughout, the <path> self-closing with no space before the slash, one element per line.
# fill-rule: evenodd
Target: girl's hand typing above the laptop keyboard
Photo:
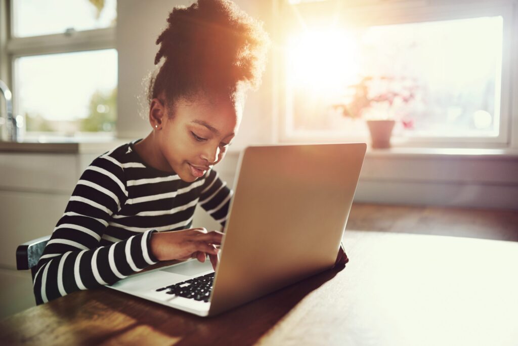
<path fill-rule="evenodd" d="M 208 254 L 215 269 L 219 252 L 215 246 L 221 244 L 222 237 L 223 233 L 217 230 L 207 232 L 205 228 L 155 232 L 151 235 L 151 252 L 159 261 L 195 257 L 205 262 Z"/>

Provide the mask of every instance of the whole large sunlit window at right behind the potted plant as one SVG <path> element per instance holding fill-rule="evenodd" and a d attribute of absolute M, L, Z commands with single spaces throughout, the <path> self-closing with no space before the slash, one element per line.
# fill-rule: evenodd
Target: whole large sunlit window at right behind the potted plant
<path fill-rule="evenodd" d="M 357 108 L 362 118 L 395 119 L 403 145 L 506 145 L 512 7 L 337 3 L 284 8 L 294 19 L 282 139 L 365 140 L 365 122 L 344 117 L 365 86 L 375 101 Z"/>

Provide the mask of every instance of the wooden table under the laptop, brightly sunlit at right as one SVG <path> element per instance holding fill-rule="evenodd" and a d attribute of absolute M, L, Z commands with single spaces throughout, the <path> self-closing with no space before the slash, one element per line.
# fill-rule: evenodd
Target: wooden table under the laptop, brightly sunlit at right
<path fill-rule="evenodd" d="M 0 344 L 518 344 L 518 243 L 363 231 L 345 239 L 345 269 L 213 318 L 102 287 L 10 316 Z"/>

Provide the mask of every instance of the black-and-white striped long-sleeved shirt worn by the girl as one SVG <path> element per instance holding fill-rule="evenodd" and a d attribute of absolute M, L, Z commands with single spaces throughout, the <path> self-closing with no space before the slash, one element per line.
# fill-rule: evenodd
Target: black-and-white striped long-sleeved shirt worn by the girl
<path fill-rule="evenodd" d="M 209 170 L 194 182 L 146 165 L 134 140 L 84 170 L 34 278 L 37 304 L 112 284 L 157 261 L 152 232 L 190 228 L 196 205 L 225 224 L 232 191 Z"/>

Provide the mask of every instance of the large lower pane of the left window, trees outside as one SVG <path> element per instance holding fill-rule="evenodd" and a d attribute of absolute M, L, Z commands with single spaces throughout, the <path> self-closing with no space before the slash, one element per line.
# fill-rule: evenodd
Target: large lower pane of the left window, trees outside
<path fill-rule="evenodd" d="M 114 49 L 20 57 L 17 111 L 27 132 L 111 132 L 117 117 Z"/>

